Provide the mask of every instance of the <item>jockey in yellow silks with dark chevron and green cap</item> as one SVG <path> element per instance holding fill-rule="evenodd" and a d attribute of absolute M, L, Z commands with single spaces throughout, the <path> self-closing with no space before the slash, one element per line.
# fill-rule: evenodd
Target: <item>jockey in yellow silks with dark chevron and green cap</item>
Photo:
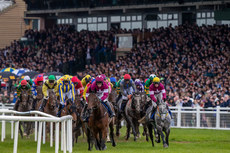
<path fill-rule="evenodd" d="M 44 99 L 42 101 L 42 104 L 39 107 L 39 111 L 43 112 L 44 111 L 44 107 L 46 106 L 46 103 L 49 99 L 49 92 L 48 89 L 54 89 L 54 92 L 57 91 L 58 85 L 56 82 L 56 78 L 54 75 L 50 75 L 48 77 L 48 80 L 45 81 L 45 83 L 42 86 L 42 93 L 44 95 Z"/>

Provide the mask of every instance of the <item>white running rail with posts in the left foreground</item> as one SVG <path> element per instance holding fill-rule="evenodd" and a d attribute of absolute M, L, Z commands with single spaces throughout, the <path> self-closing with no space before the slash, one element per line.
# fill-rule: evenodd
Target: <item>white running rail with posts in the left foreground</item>
<path fill-rule="evenodd" d="M 14 138 L 13 153 L 17 153 L 19 122 L 34 122 L 35 141 L 37 141 L 37 153 L 41 151 L 41 138 L 43 133 L 43 144 L 46 136 L 46 123 L 50 123 L 50 147 L 53 146 L 53 123 L 55 123 L 55 153 L 59 151 L 59 124 L 61 123 L 61 150 L 66 153 L 72 153 L 72 116 L 63 116 L 61 118 L 39 112 L 17 112 L 9 109 L 0 109 L 0 121 L 2 121 L 1 141 L 6 138 L 6 121 L 11 122 L 11 139 Z M 17 116 L 14 116 L 17 115 Z M 25 116 L 30 115 L 30 116 Z M 38 116 L 39 115 L 39 116 Z M 39 126 L 38 126 L 39 122 Z M 15 123 L 15 131 L 14 131 Z M 39 129 L 38 129 L 39 128 Z"/>

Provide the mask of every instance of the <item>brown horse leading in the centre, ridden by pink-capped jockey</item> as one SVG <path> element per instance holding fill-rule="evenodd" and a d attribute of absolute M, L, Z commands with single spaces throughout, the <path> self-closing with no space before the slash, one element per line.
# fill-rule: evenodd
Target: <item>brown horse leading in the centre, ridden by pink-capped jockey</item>
<path fill-rule="evenodd" d="M 89 122 L 87 125 L 87 141 L 89 146 L 88 150 L 92 150 L 91 133 L 92 136 L 95 138 L 95 147 L 97 150 L 105 150 L 107 148 L 105 142 L 108 128 L 110 128 L 112 146 L 115 147 L 116 143 L 114 140 L 113 132 L 114 119 L 109 118 L 107 110 L 94 93 L 90 93 L 88 96 L 87 112 L 90 114 Z"/>

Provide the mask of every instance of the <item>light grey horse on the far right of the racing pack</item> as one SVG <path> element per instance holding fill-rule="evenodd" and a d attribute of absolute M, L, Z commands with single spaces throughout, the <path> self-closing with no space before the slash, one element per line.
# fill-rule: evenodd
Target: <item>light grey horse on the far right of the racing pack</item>
<path fill-rule="evenodd" d="M 157 106 L 157 111 L 154 116 L 155 124 L 152 124 L 151 122 L 149 122 L 148 124 L 149 135 L 152 141 L 152 146 L 154 146 L 152 130 L 153 130 L 153 127 L 156 128 L 157 132 L 154 131 L 155 134 L 161 136 L 161 139 L 163 141 L 163 147 L 168 148 L 171 116 L 169 115 L 167 104 L 162 100 L 162 94 L 158 94 L 156 98 L 157 98 L 158 106 Z M 163 132 L 166 135 L 166 139 L 165 139 L 165 135 Z M 160 143 L 160 136 L 157 136 L 158 143 Z"/>

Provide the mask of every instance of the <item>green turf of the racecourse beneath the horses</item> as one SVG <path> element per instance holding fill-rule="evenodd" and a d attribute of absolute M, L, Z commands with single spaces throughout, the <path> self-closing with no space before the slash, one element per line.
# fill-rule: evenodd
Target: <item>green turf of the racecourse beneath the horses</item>
<path fill-rule="evenodd" d="M 1 125 L 1 124 L 0 124 Z M 7 124 L 7 134 L 4 142 L 0 142 L 0 153 L 13 152 L 13 140 L 10 138 L 10 126 Z M 142 128 L 141 128 L 142 129 Z M 1 133 L 0 133 L 1 134 Z M 151 146 L 142 136 L 133 141 L 124 138 L 125 129 L 122 135 L 116 138 L 117 146 L 112 147 L 107 143 L 106 153 L 230 153 L 230 131 L 222 130 L 197 130 L 197 129 L 171 129 L 169 148 L 164 149 L 162 144 Z M 34 137 L 21 139 L 19 136 L 18 153 L 35 153 L 37 143 Z M 86 139 L 80 137 L 79 142 L 73 148 L 74 153 L 88 153 Z M 93 148 L 92 152 L 99 152 Z M 49 142 L 41 146 L 41 153 L 54 153 L 54 147 L 49 147 Z"/>

